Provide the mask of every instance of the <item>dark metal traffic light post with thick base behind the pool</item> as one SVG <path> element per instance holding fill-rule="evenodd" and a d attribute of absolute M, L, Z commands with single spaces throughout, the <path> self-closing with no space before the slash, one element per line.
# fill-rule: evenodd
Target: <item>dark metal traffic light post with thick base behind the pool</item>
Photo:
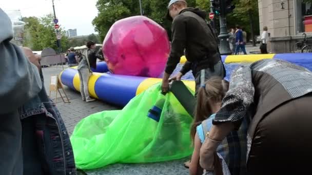
<path fill-rule="evenodd" d="M 225 8 L 225 0 L 221 0 L 222 8 Z M 221 55 L 230 55 L 232 52 L 230 50 L 228 38 L 229 35 L 227 33 L 227 27 L 226 27 L 226 14 L 225 11 L 222 10 L 220 15 L 220 35 L 218 36 L 220 39 L 220 54 Z"/>

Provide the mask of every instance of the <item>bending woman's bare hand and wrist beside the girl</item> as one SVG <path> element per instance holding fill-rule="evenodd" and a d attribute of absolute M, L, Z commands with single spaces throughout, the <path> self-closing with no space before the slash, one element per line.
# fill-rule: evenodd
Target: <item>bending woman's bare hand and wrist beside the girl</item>
<path fill-rule="evenodd" d="M 209 137 L 205 139 L 200 150 L 200 165 L 202 168 L 209 171 L 214 169 L 214 152 L 216 152 L 220 143 L 221 141 L 212 140 Z"/>

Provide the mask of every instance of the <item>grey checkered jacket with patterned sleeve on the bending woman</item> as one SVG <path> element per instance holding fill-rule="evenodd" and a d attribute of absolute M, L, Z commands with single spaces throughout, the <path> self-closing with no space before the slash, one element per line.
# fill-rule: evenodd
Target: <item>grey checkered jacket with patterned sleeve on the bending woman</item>
<path fill-rule="evenodd" d="M 246 116 L 255 94 L 251 71 L 271 75 L 293 99 L 312 92 L 312 73 L 299 65 L 279 59 L 263 59 L 248 66 L 242 65 L 231 75 L 229 91 L 213 124 L 239 122 Z"/>

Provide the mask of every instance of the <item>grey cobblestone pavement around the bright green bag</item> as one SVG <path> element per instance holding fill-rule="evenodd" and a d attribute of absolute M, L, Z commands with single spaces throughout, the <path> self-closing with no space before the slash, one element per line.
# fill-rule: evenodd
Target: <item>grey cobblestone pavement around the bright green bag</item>
<path fill-rule="evenodd" d="M 247 51 L 258 51 L 259 46 L 252 47 L 246 46 Z M 67 65 L 64 65 L 64 69 L 67 69 Z M 56 65 L 48 68 L 43 68 L 43 74 L 45 78 L 45 88 L 49 94 L 49 82 L 51 75 L 57 75 L 62 72 L 62 66 Z M 114 106 L 100 100 L 94 102 L 84 102 L 81 100 L 80 93 L 75 92 L 69 89 L 67 86 L 64 86 L 65 92 L 70 99 L 70 103 L 63 103 L 61 97 L 57 97 L 57 108 L 59 109 L 61 116 L 65 122 L 68 133 L 71 135 L 75 125 L 83 118 L 102 111 L 108 110 L 120 110 L 121 107 Z M 54 98 L 54 92 L 51 94 L 51 98 Z M 92 156 L 92 155 L 90 155 Z M 188 174 L 188 169 L 183 166 L 183 162 L 187 161 L 186 159 L 162 162 L 162 163 L 149 163 L 149 164 L 114 164 L 109 165 L 102 169 L 96 169 L 92 171 L 86 171 L 88 175 L 122 175 L 122 174 L 137 174 L 137 175 L 160 175 L 160 174 Z M 85 174 L 80 173 L 80 174 Z"/>

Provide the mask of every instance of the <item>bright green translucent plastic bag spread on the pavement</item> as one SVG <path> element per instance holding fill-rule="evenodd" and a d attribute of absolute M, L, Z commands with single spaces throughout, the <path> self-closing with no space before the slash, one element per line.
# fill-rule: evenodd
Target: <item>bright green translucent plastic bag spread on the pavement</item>
<path fill-rule="evenodd" d="M 81 120 L 70 138 L 76 167 L 95 169 L 113 163 L 149 163 L 191 155 L 191 116 L 160 84 L 134 97 L 120 111 L 104 111 Z M 157 112 L 162 108 L 159 121 Z M 150 113 L 149 113 L 150 112 Z M 148 117 L 148 114 L 150 117 Z"/>

